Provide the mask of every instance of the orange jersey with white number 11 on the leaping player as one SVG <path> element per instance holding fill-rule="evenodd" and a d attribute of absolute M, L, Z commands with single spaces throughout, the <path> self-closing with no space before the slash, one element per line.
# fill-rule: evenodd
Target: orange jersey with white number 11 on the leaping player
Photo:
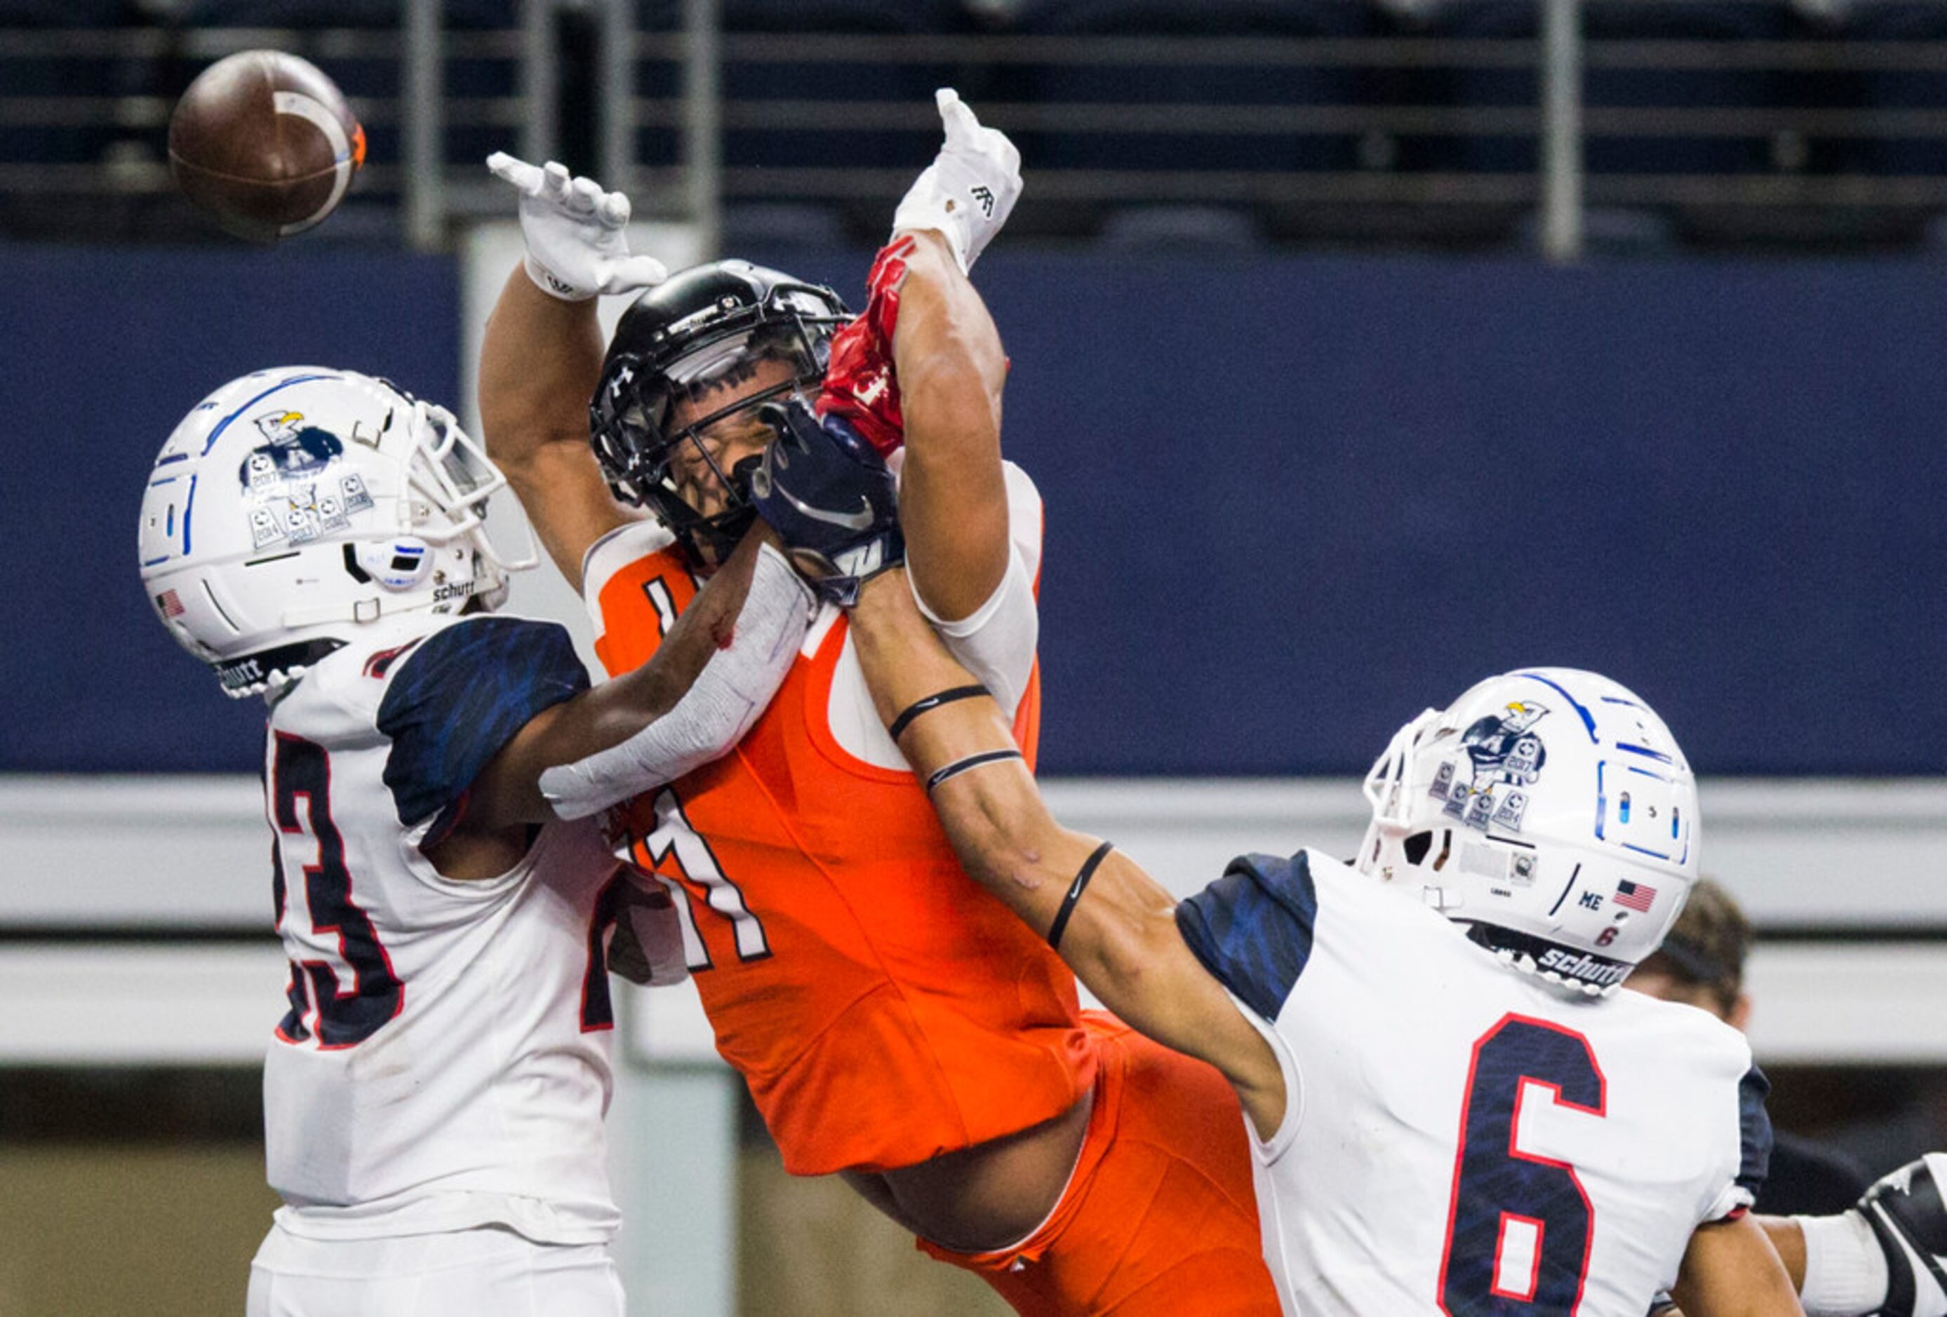
<path fill-rule="evenodd" d="M 643 552 L 613 566 L 611 543 L 613 570 L 588 580 L 609 673 L 644 663 L 697 589 L 666 537 L 621 535 Z M 794 1175 L 1012 1134 L 1075 1105 L 1096 1068 L 1069 969 L 962 873 L 911 772 L 833 735 L 831 613 L 730 755 L 625 813 L 635 862 L 689 895 L 716 1050 Z M 1034 673 L 1014 718 L 1030 765 L 1038 724 Z"/>

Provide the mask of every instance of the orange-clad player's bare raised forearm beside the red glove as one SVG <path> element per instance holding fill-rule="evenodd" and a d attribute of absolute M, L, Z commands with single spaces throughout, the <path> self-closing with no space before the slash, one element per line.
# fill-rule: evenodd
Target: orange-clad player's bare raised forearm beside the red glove
<path fill-rule="evenodd" d="M 944 239 L 915 233 L 892 338 L 905 412 L 900 523 L 919 595 L 937 615 L 974 613 L 1009 560 L 1001 389 L 1007 356 Z"/>

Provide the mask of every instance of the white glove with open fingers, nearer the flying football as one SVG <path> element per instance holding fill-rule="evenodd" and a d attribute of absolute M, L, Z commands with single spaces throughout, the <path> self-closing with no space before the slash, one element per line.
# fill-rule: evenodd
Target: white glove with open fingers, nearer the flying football
<path fill-rule="evenodd" d="M 545 169 L 506 152 L 487 167 L 520 193 L 520 235 L 528 239 L 528 278 L 563 302 L 641 292 L 670 276 L 654 257 L 631 257 L 629 198 L 594 179 L 570 179 L 567 165 Z"/>

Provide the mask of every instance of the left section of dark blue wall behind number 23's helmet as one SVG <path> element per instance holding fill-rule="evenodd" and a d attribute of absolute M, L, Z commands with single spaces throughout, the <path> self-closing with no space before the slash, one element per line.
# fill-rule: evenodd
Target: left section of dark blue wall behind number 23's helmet
<path fill-rule="evenodd" d="M 263 706 L 224 698 L 142 597 L 150 465 L 204 393 L 261 366 L 347 366 L 452 397 L 454 263 L 0 247 L 0 498 L 16 547 L 0 770 L 257 770 Z"/>

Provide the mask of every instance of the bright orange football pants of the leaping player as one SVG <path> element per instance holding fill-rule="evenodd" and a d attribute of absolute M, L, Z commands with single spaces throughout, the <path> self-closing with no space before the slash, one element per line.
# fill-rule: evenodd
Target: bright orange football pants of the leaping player
<path fill-rule="evenodd" d="M 1061 1202 L 1010 1249 L 921 1251 L 979 1274 L 1022 1317 L 1277 1317 L 1236 1093 L 1114 1015 L 1084 1023 L 1102 1062 Z"/>

